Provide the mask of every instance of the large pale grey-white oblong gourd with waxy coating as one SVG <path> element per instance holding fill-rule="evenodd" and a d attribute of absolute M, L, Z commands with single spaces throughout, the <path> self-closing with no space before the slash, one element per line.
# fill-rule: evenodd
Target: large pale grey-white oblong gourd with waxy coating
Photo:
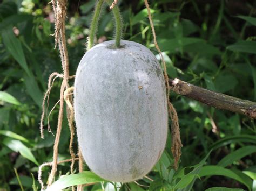
<path fill-rule="evenodd" d="M 100 43 L 80 61 L 75 119 L 86 164 L 102 178 L 130 182 L 149 173 L 165 148 L 163 72 L 145 46 Z"/>

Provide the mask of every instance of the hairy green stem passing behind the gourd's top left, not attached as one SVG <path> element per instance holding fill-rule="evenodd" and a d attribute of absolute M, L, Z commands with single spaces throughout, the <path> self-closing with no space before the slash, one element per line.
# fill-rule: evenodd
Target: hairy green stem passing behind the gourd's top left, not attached
<path fill-rule="evenodd" d="M 95 34 L 97 32 L 98 29 L 98 22 L 99 22 L 99 17 L 100 17 L 100 10 L 102 10 L 102 4 L 103 4 L 104 0 L 99 0 L 96 3 L 95 6 L 95 11 L 92 17 L 92 22 L 91 22 L 91 26 L 90 26 L 90 32 L 89 32 L 89 40 L 88 40 L 88 45 L 87 45 L 87 51 L 89 51 L 89 49 L 92 48 L 93 44 L 94 44 L 94 39 L 95 39 Z"/>

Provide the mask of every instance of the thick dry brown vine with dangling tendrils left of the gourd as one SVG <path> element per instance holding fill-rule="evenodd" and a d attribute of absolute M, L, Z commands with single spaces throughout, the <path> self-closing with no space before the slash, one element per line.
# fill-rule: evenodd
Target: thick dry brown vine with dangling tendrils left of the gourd
<path fill-rule="evenodd" d="M 48 186 L 51 185 L 53 178 L 55 177 L 55 173 L 57 171 L 57 158 L 58 158 L 58 145 L 59 145 L 59 139 L 60 139 L 60 133 L 62 131 L 62 121 L 63 121 L 63 112 L 64 112 L 64 92 L 66 89 L 69 89 L 69 57 L 68 57 L 68 51 L 66 48 L 66 38 L 65 38 L 65 19 L 66 19 L 66 0 L 52 0 L 52 9 L 55 13 L 55 33 L 53 36 L 55 36 L 55 48 L 59 47 L 59 53 L 60 53 L 60 59 L 62 62 L 62 68 L 63 68 L 63 81 L 62 86 L 60 88 L 60 100 L 59 100 L 59 116 L 58 116 L 58 125 L 57 125 L 57 132 L 56 132 L 56 138 L 55 143 L 53 146 L 53 161 L 52 161 L 52 169 L 51 173 L 49 175 L 48 179 Z M 48 85 L 48 91 L 46 91 L 44 102 L 46 100 L 46 97 L 48 97 L 49 102 L 49 94 L 52 87 L 51 79 L 55 77 L 57 74 L 52 74 L 50 76 L 49 85 Z M 57 75 L 58 76 L 58 75 Z M 60 75 L 59 75 L 60 76 Z M 53 79 L 54 81 L 55 79 Z M 68 96 L 69 97 L 69 96 Z M 69 100 L 68 98 L 66 100 Z M 43 122 L 44 118 L 44 102 L 43 102 L 43 114 L 41 121 Z M 69 100 L 69 103 L 72 101 Z M 72 105 L 72 104 L 71 104 Z M 72 141 L 73 141 L 73 110 L 70 109 L 70 107 L 67 107 L 67 115 L 68 115 L 68 121 L 69 126 L 71 130 L 71 143 L 70 143 L 70 153 L 72 157 L 72 163 L 71 163 L 71 172 L 73 172 L 73 164 L 74 164 L 74 158 L 75 154 L 72 151 Z M 41 123 L 41 136 L 43 137 L 43 130 L 42 130 L 43 123 Z"/>

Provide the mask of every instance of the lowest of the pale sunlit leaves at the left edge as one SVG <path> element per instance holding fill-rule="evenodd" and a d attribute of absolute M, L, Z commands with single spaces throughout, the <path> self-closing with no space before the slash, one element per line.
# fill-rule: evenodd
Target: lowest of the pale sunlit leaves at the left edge
<path fill-rule="evenodd" d="M 21 155 L 24 158 L 29 159 L 30 161 L 34 162 L 36 165 L 39 166 L 39 164 L 38 164 L 36 158 L 34 157 L 34 155 L 32 154 L 32 152 L 20 140 L 5 138 L 3 140 L 3 144 L 15 152 L 21 153 Z"/>

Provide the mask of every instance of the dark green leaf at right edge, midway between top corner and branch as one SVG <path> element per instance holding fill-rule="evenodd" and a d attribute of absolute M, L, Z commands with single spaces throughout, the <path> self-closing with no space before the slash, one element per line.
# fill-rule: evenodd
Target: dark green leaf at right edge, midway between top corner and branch
<path fill-rule="evenodd" d="M 239 41 L 227 47 L 230 51 L 256 54 L 256 41 Z"/>

